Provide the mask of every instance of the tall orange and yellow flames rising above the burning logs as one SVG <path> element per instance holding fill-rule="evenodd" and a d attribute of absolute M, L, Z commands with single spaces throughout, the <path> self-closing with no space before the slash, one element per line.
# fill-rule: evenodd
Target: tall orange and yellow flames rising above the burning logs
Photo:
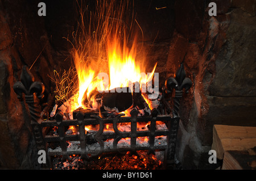
<path fill-rule="evenodd" d="M 136 60 L 135 36 L 129 48 L 132 31 L 131 28 L 127 31 L 127 22 L 123 22 L 128 4 L 97 1 L 95 14 L 90 12 L 89 26 L 84 22 L 84 13 L 89 11 L 83 11 L 80 7 L 81 32 L 76 32 L 79 40 L 73 49 L 73 60 L 79 78 L 79 107 L 86 108 L 82 102 L 83 96 L 87 94 L 89 98 L 94 89 L 106 91 L 115 87 L 128 87 L 129 83 L 134 82 L 139 82 L 142 86 L 142 83 L 146 84 L 152 79 L 156 65 L 150 75 L 144 73 L 144 58 Z M 133 23 L 131 27 L 132 25 Z M 107 73 L 109 80 L 98 77 L 98 73 Z"/>

